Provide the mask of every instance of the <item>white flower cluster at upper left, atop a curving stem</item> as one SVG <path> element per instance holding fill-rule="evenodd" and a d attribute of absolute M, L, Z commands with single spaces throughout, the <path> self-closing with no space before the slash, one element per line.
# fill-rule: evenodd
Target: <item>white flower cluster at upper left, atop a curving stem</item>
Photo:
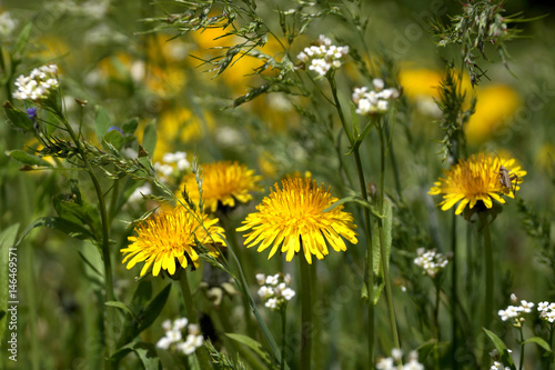
<path fill-rule="evenodd" d="M 13 92 L 13 98 L 32 101 L 48 98 L 50 91 L 59 86 L 57 76 L 58 67 L 56 64 L 36 68 L 29 76 L 21 74 L 16 80 L 18 90 Z"/>

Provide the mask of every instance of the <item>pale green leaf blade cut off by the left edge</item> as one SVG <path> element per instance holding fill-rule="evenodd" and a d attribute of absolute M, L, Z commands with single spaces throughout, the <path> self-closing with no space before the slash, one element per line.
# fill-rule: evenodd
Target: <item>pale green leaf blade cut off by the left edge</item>
<path fill-rule="evenodd" d="M 8 297 L 8 268 L 10 264 L 10 258 L 17 258 L 17 254 L 10 256 L 10 248 L 14 247 L 16 238 L 18 237 L 18 230 L 19 223 L 14 223 L 0 232 L 0 281 L 2 281 L 3 283 L 0 288 L 0 339 L 2 338 L 3 331 L 7 327 L 6 321 L 8 317 L 8 301 L 10 301 Z M 11 252 L 13 253 L 14 251 L 12 250 Z"/>

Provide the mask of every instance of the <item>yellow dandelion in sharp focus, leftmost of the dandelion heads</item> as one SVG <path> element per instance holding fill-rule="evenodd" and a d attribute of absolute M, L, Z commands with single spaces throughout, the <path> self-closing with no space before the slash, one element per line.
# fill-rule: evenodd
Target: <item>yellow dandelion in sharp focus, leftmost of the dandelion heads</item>
<path fill-rule="evenodd" d="M 210 219 L 206 214 L 192 212 L 182 206 L 153 214 L 135 227 L 137 237 L 128 238 L 131 244 L 120 250 L 127 254 L 122 263 L 129 261 L 129 270 L 138 262 L 144 262 L 141 277 L 151 267 L 154 277 L 160 270 L 172 276 L 179 266 L 186 268 L 189 263 L 193 264 L 194 270 L 199 267 L 196 241 L 205 246 L 213 256 L 218 256 L 214 243 L 224 244 L 220 237 L 223 229 L 216 222 L 218 219 Z"/>

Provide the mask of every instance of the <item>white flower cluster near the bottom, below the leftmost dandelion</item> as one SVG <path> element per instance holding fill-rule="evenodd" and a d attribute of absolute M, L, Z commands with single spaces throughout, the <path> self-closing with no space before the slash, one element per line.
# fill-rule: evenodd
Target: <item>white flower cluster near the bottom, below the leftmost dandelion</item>
<path fill-rule="evenodd" d="M 194 353 L 194 351 L 203 344 L 203 338 L 198 324 L 189 324 L 186 318 L 176 319 L 175 321 L 165 320 L 162 322 L 162 328 L 165 330 L 165 336 L 162 337 L 157 347 L 164 350 L 181 352 L 185 356 Z M 183 330 L 186 328 L 186 337 L 183 340 Z"/>

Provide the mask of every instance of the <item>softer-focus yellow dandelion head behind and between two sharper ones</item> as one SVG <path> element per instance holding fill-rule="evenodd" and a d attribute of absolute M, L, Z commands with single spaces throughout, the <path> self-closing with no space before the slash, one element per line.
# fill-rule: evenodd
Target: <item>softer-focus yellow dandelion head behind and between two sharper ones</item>
<path fill-rule="evenodd" d="M 252 200 L 251 191 L 261 190 L 258 182 L 261 176 L 255 176 L 245 164 L 233 161 L 220 161 L 202 164 L 202 199 L 204 208 L 215 212 L 218 204 L 235 207 L 235 201 L 246 203 Z M 199 186 L 194 173 L 188 173 L 180 186 L 185 189 L 189 198 L 198 203 Z M 180 191 L 181 191 L 180 190 Z M 178 194 L 181 198 L 181 193 Z"/>

